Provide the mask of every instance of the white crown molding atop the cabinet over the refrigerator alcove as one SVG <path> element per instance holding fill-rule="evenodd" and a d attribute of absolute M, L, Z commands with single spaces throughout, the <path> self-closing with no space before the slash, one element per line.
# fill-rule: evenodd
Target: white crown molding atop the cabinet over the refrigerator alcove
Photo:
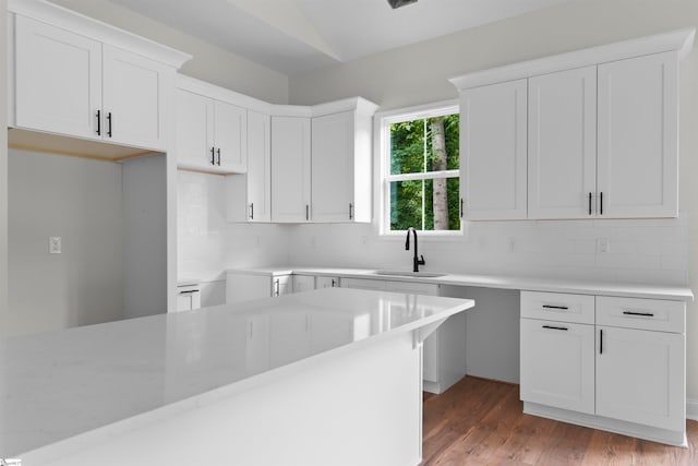
<path fill-rule="evenodd" d="M 8 0 L 8 12 L 28 16 L 125 50 L 181 68 L 192 56 L 45 0 Z"/>

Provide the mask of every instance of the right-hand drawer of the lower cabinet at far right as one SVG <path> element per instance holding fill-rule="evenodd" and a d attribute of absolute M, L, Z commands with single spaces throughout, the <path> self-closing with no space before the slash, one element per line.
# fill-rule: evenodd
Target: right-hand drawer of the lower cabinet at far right
<path fill-rule="evenodd" d="M 598 296 L 597 324 L 684 333 L 686 303 L 661 299 Z"/>

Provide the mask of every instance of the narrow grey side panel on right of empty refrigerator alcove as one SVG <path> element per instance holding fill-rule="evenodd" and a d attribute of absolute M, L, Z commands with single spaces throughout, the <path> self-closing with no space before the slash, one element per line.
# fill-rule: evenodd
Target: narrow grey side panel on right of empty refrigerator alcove
<path fill-rule="evenodd" d="M 165 154 L 123 163 L 123 316 L 167 312 Z"/>

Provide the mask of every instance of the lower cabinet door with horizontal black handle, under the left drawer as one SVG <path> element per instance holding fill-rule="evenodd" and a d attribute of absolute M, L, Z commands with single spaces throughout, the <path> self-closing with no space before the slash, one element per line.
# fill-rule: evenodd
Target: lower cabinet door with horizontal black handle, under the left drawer
<path fill-rule="evenodd" d="M 520 332 L 521 399 L 593 414 L 593 325 L 521 319 Z"/>

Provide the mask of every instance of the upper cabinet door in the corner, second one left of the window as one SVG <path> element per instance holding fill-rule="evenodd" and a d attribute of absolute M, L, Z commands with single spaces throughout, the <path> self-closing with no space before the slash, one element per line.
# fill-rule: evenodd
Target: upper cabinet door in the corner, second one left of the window
<path fill-rule="evenodd" d="M 272 219 L 303 223 L 311 210 L 311 126 L 309 118 L 272 118 Z"/>

